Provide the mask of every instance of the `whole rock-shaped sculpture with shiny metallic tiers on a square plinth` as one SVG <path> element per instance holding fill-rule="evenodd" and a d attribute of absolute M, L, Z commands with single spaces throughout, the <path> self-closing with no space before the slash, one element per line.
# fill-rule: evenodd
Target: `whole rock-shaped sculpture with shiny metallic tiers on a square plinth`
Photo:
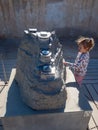
<path fill-rule="evenodd" d="M 65 107 L 63 52 L 55 32 L 24 31 L 15 78 L 23 101 L 31 108 L 51 110 Z"/>

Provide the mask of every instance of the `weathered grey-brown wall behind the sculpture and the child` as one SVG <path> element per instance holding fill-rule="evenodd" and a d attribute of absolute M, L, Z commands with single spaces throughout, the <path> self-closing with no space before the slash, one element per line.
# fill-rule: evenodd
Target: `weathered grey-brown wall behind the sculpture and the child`
<path fill-rule="evenodd" d="M 98 0 L 0 0 L 0 36 L 56 30 L 59 36 L 98 35 Z"/>

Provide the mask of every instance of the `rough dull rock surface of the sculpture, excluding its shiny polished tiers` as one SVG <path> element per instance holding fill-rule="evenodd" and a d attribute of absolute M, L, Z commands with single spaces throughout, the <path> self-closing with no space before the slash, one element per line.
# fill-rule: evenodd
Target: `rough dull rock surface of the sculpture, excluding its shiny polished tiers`
<path fill-rule="evenodd" d="M 43 43 L 41 43 L 43 44 Z M 59 48 L 58 40 L 53 42 L 53 51 Z M 47 44 L 46 44 L 47 45 Z M 60 55 L 57 70 L 58 78 L 40 80 L 37 70 L 40 63 L 40 42 L 36 38 L 25 37 L 18 49 L 16 81 L 23 101 L 36 110 L 61 109 L 66 103 L 65 72 L 63 57 Z M 56 59 L 56 60 L 57 60 Z"/>

